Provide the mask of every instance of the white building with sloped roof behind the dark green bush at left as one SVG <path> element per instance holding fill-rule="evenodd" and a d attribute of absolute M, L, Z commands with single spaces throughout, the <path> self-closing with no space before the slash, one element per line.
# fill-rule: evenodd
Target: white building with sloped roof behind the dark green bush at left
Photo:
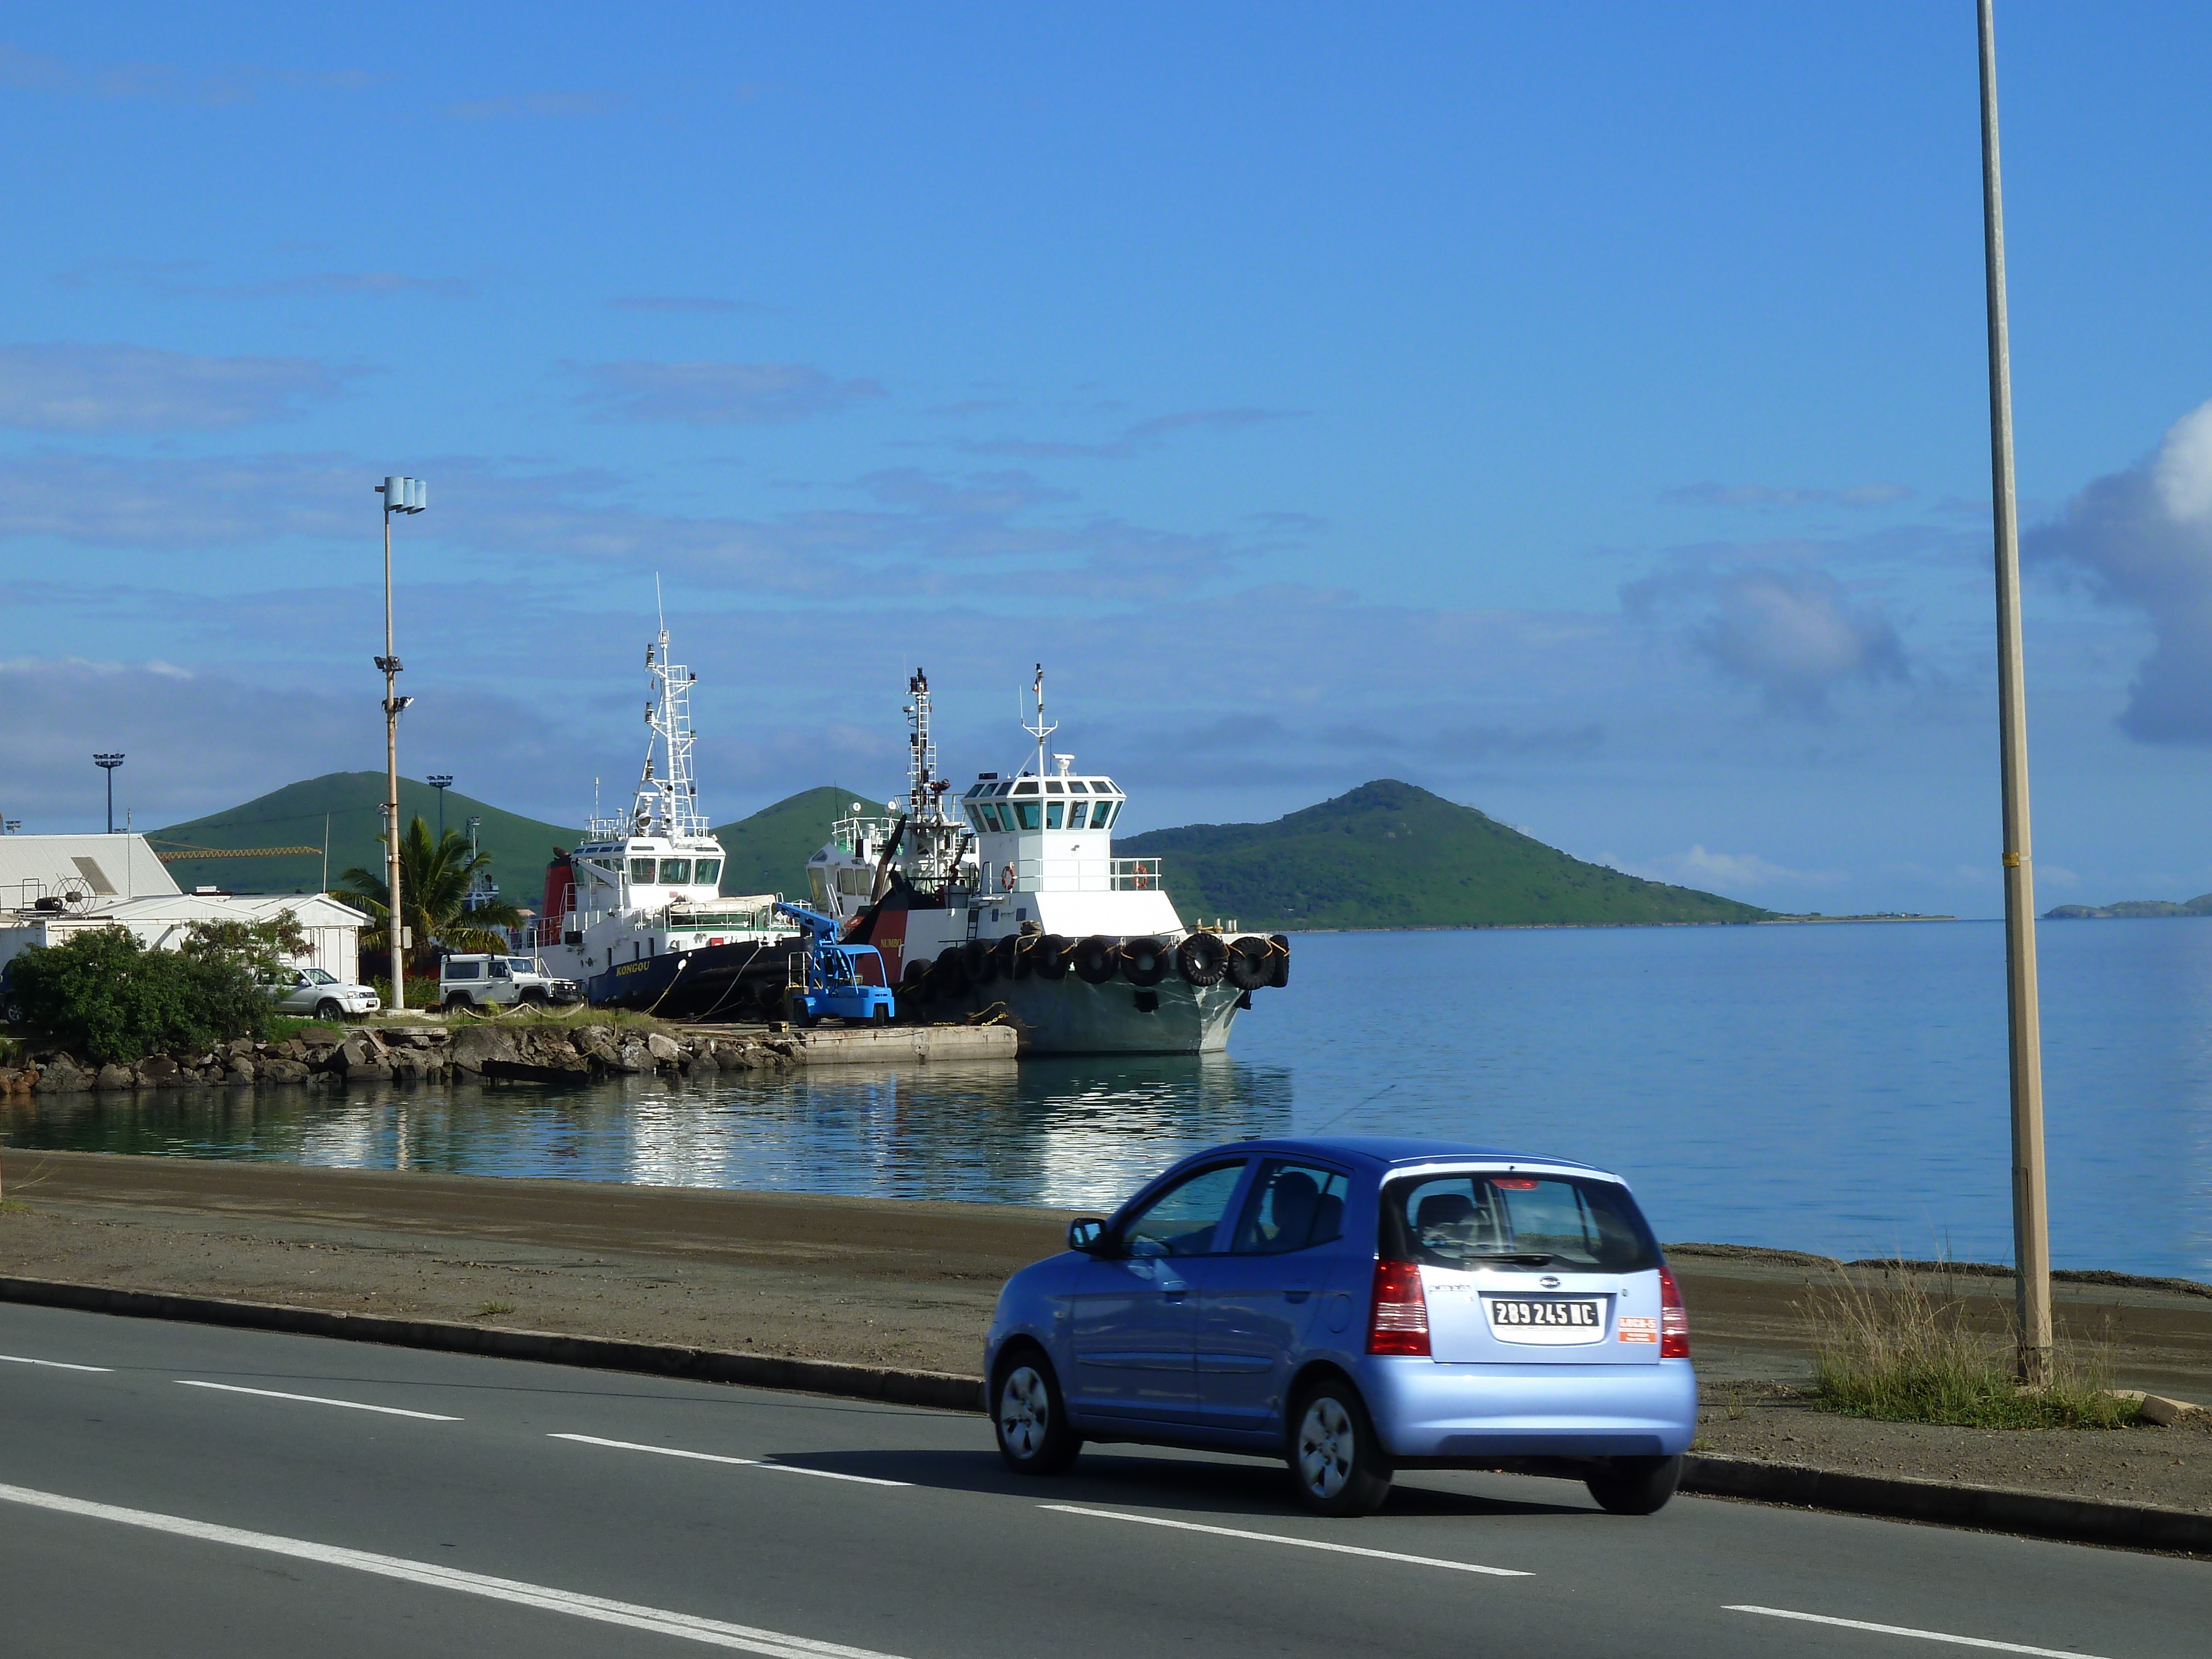
<path fill-rule="evenodd" d="M 150 949 L 173 951 L 192 922 L 265 922 L 281 911 L 307 936 L 299 967 L 354 980 L 369 918 L 336 898 L 186 894 L 137 834 L 0 836 L 0 964 L 88 927 L 128 927 Z"/>

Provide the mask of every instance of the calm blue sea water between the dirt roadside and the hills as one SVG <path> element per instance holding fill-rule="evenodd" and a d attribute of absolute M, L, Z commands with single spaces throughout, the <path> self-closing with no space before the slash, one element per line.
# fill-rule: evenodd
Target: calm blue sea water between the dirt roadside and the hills
<path fill-rule="evenodd" d="M 2212 920 L 2044 922 L 2062 1267 L 2212 1279 Z M 1230 1055 L 62 1097 L 15 1146 L 1110 1206 L 1254 1133 L 1621 1170 L 1663 1239 L 2008 1261 L 1995 922 L 1323 933 Z M 1380 1091 L 1380 1093 L 1378 1093 Z"/>

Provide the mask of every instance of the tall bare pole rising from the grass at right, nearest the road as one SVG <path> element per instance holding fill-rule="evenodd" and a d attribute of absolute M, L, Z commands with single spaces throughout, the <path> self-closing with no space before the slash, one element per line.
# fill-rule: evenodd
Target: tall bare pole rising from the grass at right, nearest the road
<path fill-rule="evenodd" d="M 1997 754 L 2004 790 L 2004 991 L 2013 1062 L 2013 1274 L 2020 1380 L 2051 1380 L 2051 1206 L 2044 1188 L 2044 1044 L 2035 1006 L 2035 867 L 2028 856 L 2028 690 L 2020 655 L 2013 502 L 2013 354 L 2004 321 L 2004 184 L 1997 175 L 1997 24 L 1982 24 L 1982 246 L 1989 268 L 1989 467 L 1997 540 Z"/>

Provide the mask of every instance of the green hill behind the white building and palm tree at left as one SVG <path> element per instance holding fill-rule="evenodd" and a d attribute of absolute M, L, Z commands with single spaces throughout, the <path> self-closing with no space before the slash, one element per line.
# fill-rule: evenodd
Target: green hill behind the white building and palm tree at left
<path fill-rule="evenodd" d="M 385 858 L 383 772 L 325 772 L 319 779 L 288 783 L 246 805 L 217 812 L 166 830 L 148 830 L 155 852 L 179 847 L 316 847 L 310 854 L 281 858 L 177 858 L 168 874 L 190 891 L 197 885 L 226 887 L 237 894 L 319 891 L 323 885 L 323 825 L 330 823 L 330 883 L 347 869 L 383 869 Z M 416 779 L 400 779 L 400 818 L 420 816 L 438 832 L 438 792 Z M 491 854 L 491 878 L 500 896 L 538 909 L 544 896 L 544 869 L 553 847 L 573 847 L 573 825 L 524 818 L 500 812 L 460 790 L 445 792 L 445 827 L 467 830 L 480 816 L 478 845 Z"/>

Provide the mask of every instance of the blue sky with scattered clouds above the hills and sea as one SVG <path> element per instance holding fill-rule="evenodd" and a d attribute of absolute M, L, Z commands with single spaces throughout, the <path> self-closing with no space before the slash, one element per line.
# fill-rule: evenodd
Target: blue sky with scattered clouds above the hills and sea
<path fill-rule="evenodd" d="M 2201 9 L 2004 4 L 2039 898 L 2212 889 Z M 0 812 L 1060 745 L 1997 898 L 1973 7 L 294 7 L 0 31 Z"/>

